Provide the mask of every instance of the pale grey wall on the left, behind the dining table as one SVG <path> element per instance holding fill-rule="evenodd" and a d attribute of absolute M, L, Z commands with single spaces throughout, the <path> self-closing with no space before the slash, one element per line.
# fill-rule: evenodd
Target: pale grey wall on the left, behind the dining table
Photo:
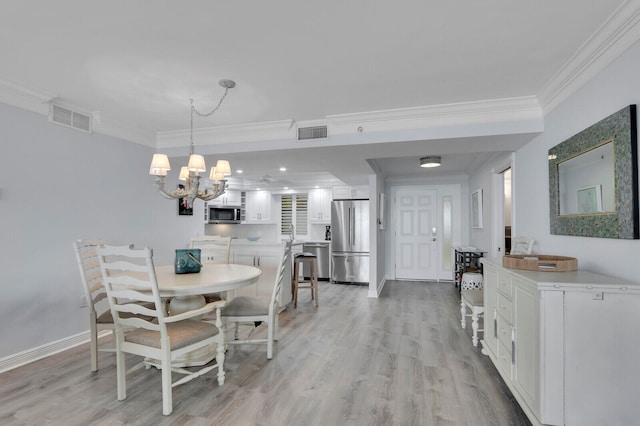
<path fill-rule="evenodd" d="M 1 103 L 0 141 L 0 359 L 88 330 L 73 240 L 148 245 L 167 264 L 202 233 L 202 211 L 179 217 L 155 191 L 150 148 Z"/>

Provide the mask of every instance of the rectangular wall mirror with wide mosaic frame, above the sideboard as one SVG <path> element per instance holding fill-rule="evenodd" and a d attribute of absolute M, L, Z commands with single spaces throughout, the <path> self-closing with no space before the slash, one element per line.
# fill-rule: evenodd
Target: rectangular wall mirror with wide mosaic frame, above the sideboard
<path fill-rule="evenodd" d="M 636 106 L 549 150 L 551 233 L 640 238 Z"/>

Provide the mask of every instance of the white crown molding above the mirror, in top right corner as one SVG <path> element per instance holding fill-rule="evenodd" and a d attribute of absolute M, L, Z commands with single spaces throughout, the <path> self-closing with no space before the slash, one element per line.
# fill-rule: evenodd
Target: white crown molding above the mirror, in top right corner
<path fill-rule="evenodd" d="M 640 1 L 623 2 L 538 95 L 548 114 L 640 40 Z"/>

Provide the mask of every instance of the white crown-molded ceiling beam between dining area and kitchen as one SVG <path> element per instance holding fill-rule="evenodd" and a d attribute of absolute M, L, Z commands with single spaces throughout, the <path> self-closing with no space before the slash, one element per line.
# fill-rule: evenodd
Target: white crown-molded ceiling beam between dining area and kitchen
<path fill-rule="evenodd" d="M 413 132 L 417 138 L 429 138 L 434 130 L 441 135 L 451 132 L 459 136 L 464 128 L 485 128 L 499 124 L 500 132 L 514 131 L 538 132 L 543 129 L 542 109 L 535 96 L 492 99 L 475 102 L 461 102 L 444 105 L 431 105 L 413 108 L 401 108 L 385 111 L 371 111 L 354 114 L 329 115 L 326 119 L 295 122 L 282 120 L 266 123 L 251 123 L 240 126 L 217 126 L 194 130 L 194 139 L 200 149 L 217 146 L 230 150 L 238 144 L 265 143 L 277 144 L 278 149 L 291 148 L 298 144 L 299 127 L 326 124 L 329 138 L 325 146 L 343 143 L 366 143 L 381 135 L 389 141 L 388 132 Z M 364 139 L 354 139 L 354 135 L 365 133 Z M 451 130 L 458 129 L 458 130 Z M 171 150 L 189 145 L 189 130 L 159 132 L 157 147 L 159 150 Z M 484 133 L 483 133 L 484 134 Z M 384 135 L 384 136 L 383 136 Z M 364 136 L 364 135 L 362 135 Z M 283 145 L 284 144 L 284 145 Z M 285 146 L 291 145 L 291 146 Z M 276 146 L 276 145 L 274 145 Z M 299 147 L 299 146 L 298 146 Z M 255 147 L 257 148 L 257 147 Z"/>

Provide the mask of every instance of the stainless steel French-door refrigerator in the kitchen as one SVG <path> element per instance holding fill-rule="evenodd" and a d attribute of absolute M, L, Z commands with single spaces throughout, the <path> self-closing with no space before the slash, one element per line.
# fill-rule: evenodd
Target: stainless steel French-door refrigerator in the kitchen
<path fill-rule="evenodd" d="M 331 282 L 369 282 L 369 200 L 331 203 Z"/>

